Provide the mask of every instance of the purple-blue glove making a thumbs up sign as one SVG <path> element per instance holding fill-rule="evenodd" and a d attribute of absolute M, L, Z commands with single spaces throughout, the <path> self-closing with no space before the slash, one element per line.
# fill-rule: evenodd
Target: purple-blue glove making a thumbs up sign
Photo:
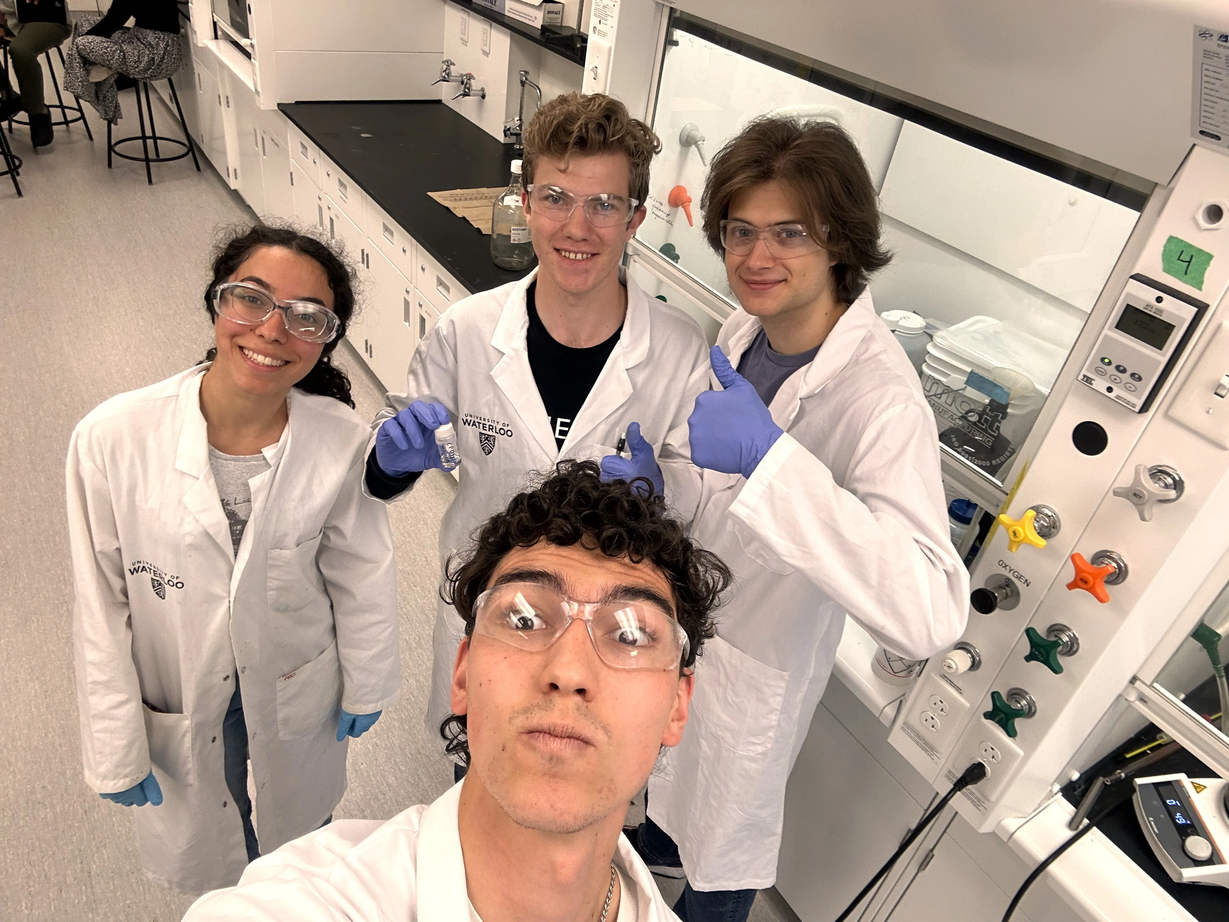
<path fill-rule="evenodd" d="M 768 454 L 782 428 L 752 384 L 730 365 L 718 347 L 709 350 L 713 374 L 724 391 L 704 391 L 687 417 L 692 463 L 721 473 L 750 477 Z"/>

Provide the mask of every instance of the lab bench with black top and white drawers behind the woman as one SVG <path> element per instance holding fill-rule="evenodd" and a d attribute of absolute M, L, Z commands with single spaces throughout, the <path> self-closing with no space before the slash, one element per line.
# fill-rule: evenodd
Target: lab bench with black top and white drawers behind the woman
<path fill-rule="evenodd" d="M 490 237 L 429 192 L 508 182 L 511 146 L 441 102 L 296 102 L 289 119 L 294 214 L 340 238 L 367 293 L 348 333 L 399 390 L 418 341 L 473 291 L 515 282 Z"/>

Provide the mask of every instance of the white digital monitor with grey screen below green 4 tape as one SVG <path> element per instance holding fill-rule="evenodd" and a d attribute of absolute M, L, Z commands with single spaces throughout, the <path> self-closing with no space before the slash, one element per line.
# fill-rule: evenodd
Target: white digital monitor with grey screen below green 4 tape
<path fill-rule="evenodd" d="M 1145 412 L 1177 363 L 1203 301 L 1144 275 L 1132 275 L 1101 331 L 1080 382 L 1136 413 Z"/>

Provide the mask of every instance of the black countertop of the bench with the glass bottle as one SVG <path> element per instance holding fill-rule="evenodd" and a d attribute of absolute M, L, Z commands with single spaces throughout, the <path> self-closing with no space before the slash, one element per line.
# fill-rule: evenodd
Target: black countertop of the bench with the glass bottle
<path fill-rule="evenodd" d="M 426 194 L 506 186 L 511 145 L 442 102 L 290 102 L 278 108 L 467 290 L 485 291 L 526 274 L 495 266 L 490 237 Z"/>

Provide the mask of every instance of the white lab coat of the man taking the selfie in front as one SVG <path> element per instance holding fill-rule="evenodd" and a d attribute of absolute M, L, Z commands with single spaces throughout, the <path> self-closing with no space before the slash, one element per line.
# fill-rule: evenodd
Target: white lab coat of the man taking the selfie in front
<path fill-rule="evenodd" d="M 457 832 L 463 783 L 387 822 L 334 820 L 252 862 L 238 886 L 205 894 L 183 922 L 471 922 Z M 676 922 L 622 835 L 613 861 L 623 890 L 611 922 Z"/>

